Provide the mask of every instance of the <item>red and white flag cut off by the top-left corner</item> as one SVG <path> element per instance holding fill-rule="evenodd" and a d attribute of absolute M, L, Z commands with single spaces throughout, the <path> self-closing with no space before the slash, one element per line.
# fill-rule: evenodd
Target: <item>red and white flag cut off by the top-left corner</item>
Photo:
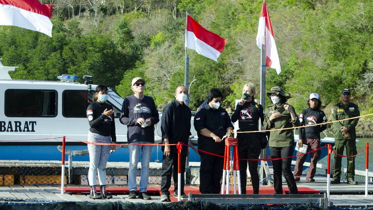
<path fill-rule="evenodd" d="M 52 7 L 38 0 L 0 0 L 0 25 L 14 25 L 52 37 Z"/>

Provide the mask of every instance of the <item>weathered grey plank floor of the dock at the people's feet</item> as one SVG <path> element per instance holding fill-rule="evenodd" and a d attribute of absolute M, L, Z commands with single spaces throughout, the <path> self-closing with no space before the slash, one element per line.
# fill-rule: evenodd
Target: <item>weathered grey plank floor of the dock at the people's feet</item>
<path fill-rule="evenodd" d="M 324 190 L 325 181 L 319 181 L 319 177 L 316 177 L 316 182 L 297 182 L 298 186 L 306 186 L 308 188 L 316 188 L 321 192 Z M 286 183 L 284 183 L 286 185 Z M 112 185 L 108 185 L 112 186 Z M 151 187 L 152 185 L 149 185 Z M 316 187 L 315 187 L 316 186 Z M 194 186 L 198 188 L 198 186 Z M 128 199 L 128 194 L 115 194 L 112 199 L 100 199 L 92 200 L 88 198 L 87 194 L 60 194 L 60 185 L 9 185 L 0 186 L 0 204 L 7 199 L 19 199 L 19 200 L 34 200 L 40 199 L 45 201 L 95 201 L 95 202 L 156 202 L 163 203 L 160 201 L 160 195 L 152 194 L 152 200 L 144 201 L 142 199 Z M 250 186 L 248 186 L 250 188 Z M 325 186 L 326 189 L 326 186 Z M 364 185 L 351 186 L 348 184 L 340 184 L 331 186 L 329 206 L 336 207 L 373 207 L 373 186 L 370 187 L 369 195 L 364 196 Z"/>

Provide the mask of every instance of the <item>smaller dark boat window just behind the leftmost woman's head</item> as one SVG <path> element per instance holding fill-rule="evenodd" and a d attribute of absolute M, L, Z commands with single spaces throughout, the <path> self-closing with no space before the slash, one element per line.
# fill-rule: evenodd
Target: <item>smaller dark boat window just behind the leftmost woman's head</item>
<path fill-rule="evenodd" d="M 87 107 L 92 101 L 87 90 L 64 90 L 62 92 L 63 117 L 86 118 Z"/>

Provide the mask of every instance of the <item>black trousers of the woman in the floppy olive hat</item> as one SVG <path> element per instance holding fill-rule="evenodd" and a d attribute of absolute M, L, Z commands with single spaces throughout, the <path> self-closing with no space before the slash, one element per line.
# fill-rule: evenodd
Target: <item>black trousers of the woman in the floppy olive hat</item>
<path fill-rule="evenodd" d="M 294 146 L 269 147 L 271 158 L 284 158 L 293 155 Z M 291 158 L 272 160 L 273 164 L 273 184 L 276 194 L 282 194 L 282 172 L 288 184 L 289 194 L 298 194 L 297 184 L 293 173 L 291 173 Z"/>

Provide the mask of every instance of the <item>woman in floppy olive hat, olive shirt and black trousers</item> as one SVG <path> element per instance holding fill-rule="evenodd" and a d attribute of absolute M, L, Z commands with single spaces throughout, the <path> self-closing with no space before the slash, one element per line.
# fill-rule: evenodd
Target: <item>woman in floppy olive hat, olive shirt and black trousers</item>
<path fill-rule="evenodd" d="M 294 152 L 294 131 L 293 129 L 275 130 L 299 126 L 298 116 L 295 109 L 286 104 L 286 96 L 282 87 L 275 86 L 267 93 L 273 105 L 268 106 L 264 117 L 264 129 L 270 131 L 269 151 L 271 158 L 284 158 L 272 160 L 273 184 L 275 194 L 283 194 L 282 173 L 288 184 L 289 194 L 298 194 L 297 184 L 291 172 L 291 157 Z"/>

